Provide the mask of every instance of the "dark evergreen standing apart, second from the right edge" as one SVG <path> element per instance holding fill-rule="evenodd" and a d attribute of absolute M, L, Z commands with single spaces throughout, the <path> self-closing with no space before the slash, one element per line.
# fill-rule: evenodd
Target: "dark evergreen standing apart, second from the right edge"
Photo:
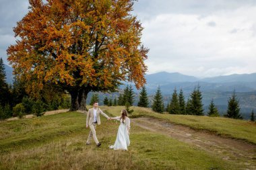
<path fill-rule="evenodd" d="M 232 96 L 228 100 L 228 110 L 226 113 L 226 116 L 228 118 L 243 119 L 240 114 L 239 101 L 238 99 L 236 99 L 235 91 L 233 91 Z"/>

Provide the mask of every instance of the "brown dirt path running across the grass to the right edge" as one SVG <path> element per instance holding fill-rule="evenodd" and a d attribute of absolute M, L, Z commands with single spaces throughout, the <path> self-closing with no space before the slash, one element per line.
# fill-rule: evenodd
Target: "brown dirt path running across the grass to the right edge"
<path fill-rule="evenodd" d="M 256 145 L 243 140 L 224 138 L 206 132 L 199 132 L 187 126 L 171 124 L 155 118 L 136 118 L 136 126 L 187 142 L 224 160 L 241 163 L 247 169 L 256 169 Z"/>

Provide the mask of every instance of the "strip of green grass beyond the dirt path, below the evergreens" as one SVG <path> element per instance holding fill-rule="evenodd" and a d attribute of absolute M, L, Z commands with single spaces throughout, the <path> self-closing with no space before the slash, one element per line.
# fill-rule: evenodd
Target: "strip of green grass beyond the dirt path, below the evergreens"
<path fill-rule="evenodd" d="M 131 107 L 134 112 L 132 118 L 148 116 L 166 120 L 174 124 L 189 126 L 195 130 L 206 130 L 221 136 L 238 138 L 256 144 L 256 124 L 247 120 L 234 120 L 230 118 L 213 118 L 208 116 L 158 114 L 150 108 Z M 113 107 L 107 111 L 118 116 L 122 107 Z"/>

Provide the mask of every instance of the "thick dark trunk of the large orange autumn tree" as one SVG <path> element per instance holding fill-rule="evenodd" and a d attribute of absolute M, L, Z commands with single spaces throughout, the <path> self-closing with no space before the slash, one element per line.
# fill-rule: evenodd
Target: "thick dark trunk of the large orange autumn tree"
<path fill-rule="evenodd" d="M 86 98 L 90 91 L 86 89 L 75 89 L 69 91 L 71 94 L 71 108 L 70 111 L 75 110 L 87 110 L 86 109 Z"/>

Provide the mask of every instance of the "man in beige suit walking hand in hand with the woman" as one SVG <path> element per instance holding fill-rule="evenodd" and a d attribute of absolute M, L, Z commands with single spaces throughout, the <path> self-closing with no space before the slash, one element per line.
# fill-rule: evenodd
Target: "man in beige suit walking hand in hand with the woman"
<path fill-rule="evenodd" d="M 94 138 L 94 142 L 96 143 L 97 146 L 100 146 L 101 144 L 100 142 L 98 142 L 98 139 L 96 136 L 96 124 L 100 125 L 100 114 L 102 114 L 108 120 L 110 120 L 110 118 L 106 114 L 104 114 L 102 110 L 100 110 L 100 108 L 98 108 L 98 102 L 96 101 L 94 102 L 94 107 L 88 110 L 88 114 L 86 118 L 86 128 L 88 128 L 88 126 L 90 127 L 90 133 L 86 141 L 86 144 L 90 144 L 90 140 L 92 137 Z"/>

